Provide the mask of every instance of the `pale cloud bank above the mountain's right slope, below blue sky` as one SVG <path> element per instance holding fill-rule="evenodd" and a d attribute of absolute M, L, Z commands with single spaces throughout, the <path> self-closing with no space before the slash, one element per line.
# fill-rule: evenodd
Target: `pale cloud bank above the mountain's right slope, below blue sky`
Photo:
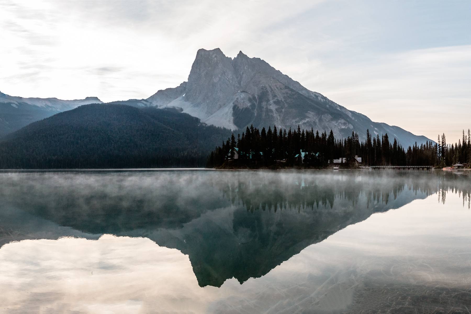
<path fill-rule="evenodd" d="M 329 82 L 335 81 L 336 84 Z M 470 128 L 471 45 L 385 54 L 306 78 L 333 101 L 374 121 L 457 141 Z M 455 113 L 463 114 L 455 114 Z M 444 119 L 444 117 L 447 117 Z M 450 118 L 453 116 L 453 118 Z"/>

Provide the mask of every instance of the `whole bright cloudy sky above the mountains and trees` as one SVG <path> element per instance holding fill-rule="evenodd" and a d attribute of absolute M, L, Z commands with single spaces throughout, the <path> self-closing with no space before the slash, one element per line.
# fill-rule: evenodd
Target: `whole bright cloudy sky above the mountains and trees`
<path fill-rule="evenodd" d="M 0 91 L 102 101 L 186 81 L 239 50 L 373 121 L 471 128 L 471 1 L 0 1 Z"/>

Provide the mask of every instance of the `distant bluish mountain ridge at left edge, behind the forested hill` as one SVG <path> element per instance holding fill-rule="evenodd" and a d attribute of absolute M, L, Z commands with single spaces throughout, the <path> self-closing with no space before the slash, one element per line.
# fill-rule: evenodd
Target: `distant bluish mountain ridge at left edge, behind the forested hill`
<path fill-rule="evenodd" d="M 56 113 L 80 105 L 101 104 L 97 97 L 61 100 L 57 98 L 23 98 L 0 92 L 0 137 Z"/>

